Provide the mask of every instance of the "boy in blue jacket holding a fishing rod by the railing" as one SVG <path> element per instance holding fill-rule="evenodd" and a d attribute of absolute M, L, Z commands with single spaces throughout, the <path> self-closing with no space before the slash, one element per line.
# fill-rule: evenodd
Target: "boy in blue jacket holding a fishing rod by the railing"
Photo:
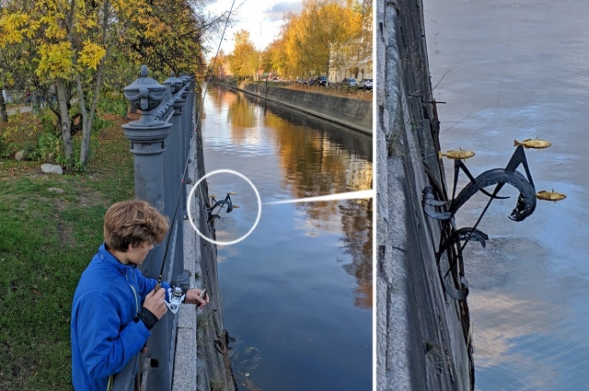
<path fill-rule="evenodd" d="M 168 230 L 166 217 L 145 201 L 122 201 L 104 216 L 104 243 L 82 273 L 71 316 L 72 382 L 77 391 L 107 390 L 113 376 L 145 346 L 150 330 L 167 312 L 156 280 L 136 269 Z M 199 289 L 185 303 L 207 301 Z"/>

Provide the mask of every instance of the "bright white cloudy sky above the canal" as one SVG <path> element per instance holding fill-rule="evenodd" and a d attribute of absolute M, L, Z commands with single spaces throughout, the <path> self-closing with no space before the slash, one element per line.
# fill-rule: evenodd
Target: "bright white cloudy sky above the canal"
<path fill-rule="evenodd" d="M 206 11 L 211 14 L 221 14 L 221 12 L 229 11 L 233 0 L 209 0 L 206 6 Z M 233 51 L 234 41 L 233 35 L 240 29 L 250 32 L 250 39 L 252 40 L 256 49 L 260 47 L 265 49 L 270 42 L 278 37 L 280 27 L 282 26 L 282 16 L 285 12 L 294 12 L 300 14 L 303 9 L 302 0 L 300 1 L 280 1 L 280 0 L 235 0 L 233 6 L 233 19 L 236 22 L 233 27 L 227 26 L 223 44 L 221 49 L 225 54 Z M 260 23 L 262 34 L 260 34 Z M 217 52 L 220 35 L 210 37 L 207 45 L 211 49 L 207 59 L 213 57 Z"/>

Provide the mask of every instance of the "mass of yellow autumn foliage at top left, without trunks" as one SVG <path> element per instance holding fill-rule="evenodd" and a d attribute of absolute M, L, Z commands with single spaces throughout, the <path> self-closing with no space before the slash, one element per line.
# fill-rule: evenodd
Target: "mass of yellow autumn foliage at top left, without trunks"
<path fill-rule="evenodd" d="M 24 68 L 35 69 L 40 78 L 82 75 L 85 82 L 107 53 L 116 51 L 123 51 L 133 65 L 148 64 L 154 71 L 200 67 L 203 28 L 188 0 L 0 2 L 0 51 L 6 53 L 8 45 L 19 47 L 19 53 L 29 49 Z M 108 51 L 113 46 L 117 50 Z"/>

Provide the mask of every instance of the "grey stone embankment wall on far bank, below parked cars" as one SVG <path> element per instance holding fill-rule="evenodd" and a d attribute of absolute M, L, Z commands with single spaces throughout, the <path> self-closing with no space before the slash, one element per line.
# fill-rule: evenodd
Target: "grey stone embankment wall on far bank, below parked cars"
<path fill-rule="evenodd" d="M 247 92 L 270 102 L 343 125 L 353 130 L 372 134 L 372 102 L 335 95 L 291 90 L 250 82 L 223 82 L 217 84 Z"/>

